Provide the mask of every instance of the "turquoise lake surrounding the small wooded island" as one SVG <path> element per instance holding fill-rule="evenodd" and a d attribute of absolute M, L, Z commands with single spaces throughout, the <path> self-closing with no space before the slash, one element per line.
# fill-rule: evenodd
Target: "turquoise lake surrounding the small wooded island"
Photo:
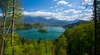
<path fill-rule="evenodd" d="M 31 28 L 31 29 L 17 29 L 15 32 L 19 34 L 21 37 L 29 38 L 29 39 L 36 39 L 42 38 L 43 40 L 46 40 L 46 38 L 49 38 L 51 40 L 54 40 L 55 38 L 58 38 L 65 29 L 63 27 L 44 27 L 44 29 L 47 29 L 49 32 L 38 32 L 37 30 L 41 28 Z"/>

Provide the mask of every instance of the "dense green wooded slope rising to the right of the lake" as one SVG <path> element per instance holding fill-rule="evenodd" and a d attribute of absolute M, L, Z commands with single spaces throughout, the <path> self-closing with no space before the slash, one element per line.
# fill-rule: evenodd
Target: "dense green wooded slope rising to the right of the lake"
<path fill-rule="evenodd" d="M 90 21 L 66 31 L 54 40 L 56 53 L 67 50 L 69 55 L 92 55 L 94 53 L 94 22 Z M 63 46 L 63 47 L 62 47 Z M 65 54 L 66 55 L 66 54 Z"/>

